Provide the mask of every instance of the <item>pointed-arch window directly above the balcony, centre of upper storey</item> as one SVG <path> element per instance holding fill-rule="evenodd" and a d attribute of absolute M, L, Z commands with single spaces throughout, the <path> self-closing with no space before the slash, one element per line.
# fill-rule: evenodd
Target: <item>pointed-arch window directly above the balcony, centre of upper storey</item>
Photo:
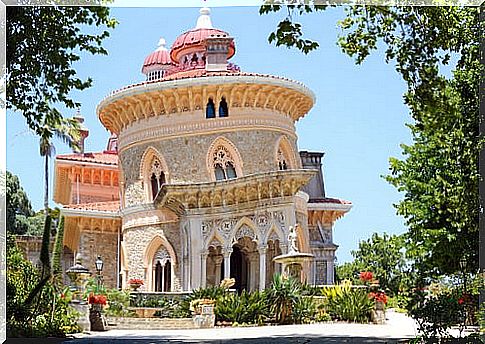
<path fill-rule="evenodd" d="M 209 146 L 206 164 L 212 181 L 243 176 L 241 155 L 236 146 L 223 136 L 216 138 Z"/>

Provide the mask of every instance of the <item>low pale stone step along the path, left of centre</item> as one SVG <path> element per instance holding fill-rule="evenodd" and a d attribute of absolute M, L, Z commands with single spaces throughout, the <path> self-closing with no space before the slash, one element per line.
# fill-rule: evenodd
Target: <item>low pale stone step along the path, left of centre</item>
<path fill-rule="evenodd" d="M 196 328 L 192 318 L 108 318 L 110 329 L 117 330 L 173 330 Z"/>

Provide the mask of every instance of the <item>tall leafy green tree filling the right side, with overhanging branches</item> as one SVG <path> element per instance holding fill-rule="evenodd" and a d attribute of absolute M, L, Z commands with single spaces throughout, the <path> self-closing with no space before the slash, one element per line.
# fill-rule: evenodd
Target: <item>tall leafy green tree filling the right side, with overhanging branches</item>
<path fill-rule="evenodd" d="M 326 8 L 291 6 L 285 20 Z M 260 12 L 281 9 L 263 6 Z M 423 277 L 460 271 L 457 252 L 465 253 L 467 271 L 478 271 L 480 9 L 360 5 L 345 11 L 338 41 L 343 52 L 360 64 L 383 42 L 386 62 L 395 61 L 408 86 L 404 101 L 415 142 L 402 146 L 405 160 L 391 159 L 386 179 L 404 192 L 396 207 L 409 228 L 409 255 Z M 318 46 L 305 50 L 292 37 L 303 39 L 301 26 L 280 25 L 269 40 L 305 53 Z M 452 56 L 457 63 L 449 79 L 439 71 Z"/>

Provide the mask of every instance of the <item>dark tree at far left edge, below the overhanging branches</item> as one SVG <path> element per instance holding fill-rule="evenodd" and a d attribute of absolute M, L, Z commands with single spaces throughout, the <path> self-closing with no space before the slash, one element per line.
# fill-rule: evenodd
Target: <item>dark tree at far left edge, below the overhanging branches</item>
<path fill-rule="evenodd" d="M 27 218 L 34 215 L 30 200 L 16 175 L 6 173 L 7 232 L 25 234 L 29 224 Z"/>

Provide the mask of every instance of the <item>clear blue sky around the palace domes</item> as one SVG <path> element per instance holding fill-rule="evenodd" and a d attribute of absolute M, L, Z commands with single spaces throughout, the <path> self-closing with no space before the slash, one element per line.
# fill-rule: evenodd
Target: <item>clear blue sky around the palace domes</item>
<path fill-rule="evenodd" d="M 75 64 L 81 77 L 94 79 L 92 88 L 73 93 L 82 103 L 90 129 L 86 151 L 105 149 L 109 137 L 96 117 L 96 105 L 112 90 L 143 81 L 143 60 L 156 49 L 159 38 L 164 37 L 169 47 L 179 34 L 195 26 L 198 11 L 197 7 L 112 9 L 120 23 L 105 41 L 109 55 L 83 55 Z M 231 62 L 241 70 L 298 80 L 315 93 L 314 108 L 297 123 L 298 145 L 300 150 L 325 152 L 327 196 L 354 204 L 334 229 L 334 242 L 340 246 L 338 260 L 349 261 L 359 240 L 373 232 L 405 230 L 392 206 L 402 195 L 381 177 L 388 173 L 389 157 L 401 157 L 399 145 L 411 142 L 405 126 L 411 119 L 402 98 L 405 84 L 394 65 L 385 64 L 382 51 L 360 66 L 340 51 L 336 42 L 342 8 L 298 18 L 305 34 L 320 43 L 309 55 L 270 45 L 267 37 L 283 13 L 260 16 L 258 11 L 256 6 L 212 7 L 212 23 L 235 38 L 236 55 Z M 63 111 L 65 116 L 75 112 Z M 58 154 L 69 152 L 61 143 L 56 149 Z M 9 113 L 7 169 L 19 176 L 36 210 L 43 202 L 43 161 L 38 151 L 38 139 L 28 132 L 23 117 Z M 53 173 L 51 183 L 52 177 Z"/>

